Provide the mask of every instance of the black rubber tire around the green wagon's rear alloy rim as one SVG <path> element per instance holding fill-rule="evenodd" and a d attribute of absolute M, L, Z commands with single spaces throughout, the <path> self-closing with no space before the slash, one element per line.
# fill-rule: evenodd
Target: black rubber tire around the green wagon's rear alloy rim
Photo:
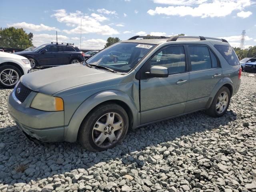
<path fill-rule="evenodd" d="M 217 101 L 218 101 L 218 97 L 220 96 L 220 94 L 222 94 L 223 92 L 226 92 L 228 94 L 228 104 L 225 108 L 225 110 L 221 113 L 219 113 L 216 109 L 216 104 L 217 104 Z M 208 108 L 206 110 L 206 114 L 208 114 L 209 116 L 212 116 L 212 117 L 220 117 L 222 115 L 224 115 L 226 113 L 226 111 L 228 110 L 228 106 L 229 106 L 229 103 L 230 103 L 230 91 L 227 87 L 223 86 L 222 88 L 220 88 L 220 90 L 218 90 L 217 94 L 215 95 L 213 101 L 212 101 L 212 104 L 210 106 L 210 108 Z"/>

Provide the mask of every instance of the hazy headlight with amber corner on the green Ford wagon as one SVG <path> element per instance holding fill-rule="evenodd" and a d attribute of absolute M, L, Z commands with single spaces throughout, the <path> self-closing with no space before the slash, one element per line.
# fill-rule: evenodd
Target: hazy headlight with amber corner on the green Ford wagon
<path fill-rule="evenodd" d="M 30 107 L 42 111 L 63 111 L 64 102 L 60 97 L 38 93 L 32 100 Z"/>

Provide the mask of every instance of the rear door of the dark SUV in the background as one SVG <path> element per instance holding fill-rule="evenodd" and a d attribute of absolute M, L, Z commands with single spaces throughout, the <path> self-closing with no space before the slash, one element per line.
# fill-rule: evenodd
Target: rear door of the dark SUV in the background
<path fill-rule="evenodd" d="M 70 46 L 65 45 L 59 45 L 59 51 L 58 51 L 58 64 L 59 65 L 65 65 L 70 64 L 70 61 L 72 57 L 74 56 L 74 53 L 76 50 Z"/>

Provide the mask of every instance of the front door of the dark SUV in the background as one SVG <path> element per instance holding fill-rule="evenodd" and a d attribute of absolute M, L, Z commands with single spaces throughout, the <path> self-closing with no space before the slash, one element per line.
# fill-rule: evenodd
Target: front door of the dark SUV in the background
<path fill-rule="evenodd" d="M 58 65 L 58 46 L 51 45 L 39 52 L 39 65 Z"/>

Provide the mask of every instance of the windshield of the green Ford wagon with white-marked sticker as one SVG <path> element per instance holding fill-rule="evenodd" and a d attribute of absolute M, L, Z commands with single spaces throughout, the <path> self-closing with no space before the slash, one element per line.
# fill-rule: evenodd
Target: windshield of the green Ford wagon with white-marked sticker
<path fill-rule="evenodd" d="M 86 62 L 111 68 L 117 72 L 129 72 L 156 45 L 139 43 L 116 43 Z"/>

